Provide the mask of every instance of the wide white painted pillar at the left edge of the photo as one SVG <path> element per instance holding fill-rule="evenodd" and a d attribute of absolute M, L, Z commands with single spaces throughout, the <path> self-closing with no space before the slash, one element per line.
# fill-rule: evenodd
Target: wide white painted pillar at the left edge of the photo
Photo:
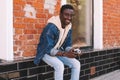
<path fill-rule="evenodd" d="M 13 60 L 13 0 L 0 0 L 0 59 Z"/>

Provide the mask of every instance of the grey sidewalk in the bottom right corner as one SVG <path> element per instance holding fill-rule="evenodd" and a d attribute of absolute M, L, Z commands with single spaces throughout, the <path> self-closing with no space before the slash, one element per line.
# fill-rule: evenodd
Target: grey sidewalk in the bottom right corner
<path fill-rule="evenodd" d="M 116 70 L 90 80 L 120 80 L 120 70 Z"/>

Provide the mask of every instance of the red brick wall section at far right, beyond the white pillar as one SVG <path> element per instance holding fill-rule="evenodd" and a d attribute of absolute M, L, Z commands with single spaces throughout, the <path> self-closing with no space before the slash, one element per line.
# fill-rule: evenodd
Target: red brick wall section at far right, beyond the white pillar
<path fill-rule="evenodd" d="M 120 0 L 103 0 L 105 48 L 120 46 Z"/>

